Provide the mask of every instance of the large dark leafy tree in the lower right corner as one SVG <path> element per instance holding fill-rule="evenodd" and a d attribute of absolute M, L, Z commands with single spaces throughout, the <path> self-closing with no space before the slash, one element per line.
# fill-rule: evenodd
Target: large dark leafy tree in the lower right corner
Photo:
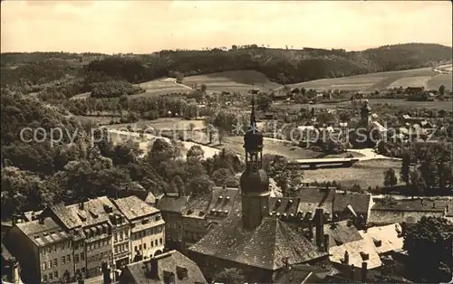
<path fill-rule="evenodd" d="M 448 242 L 451 245 L 452 235 L 453 222 L 442 217 L 423 216 L 408 229 L 404 250 L 408 251 L 408 271 L 414 279 L 432 283 L 451 280 L 453 263 Z"/>

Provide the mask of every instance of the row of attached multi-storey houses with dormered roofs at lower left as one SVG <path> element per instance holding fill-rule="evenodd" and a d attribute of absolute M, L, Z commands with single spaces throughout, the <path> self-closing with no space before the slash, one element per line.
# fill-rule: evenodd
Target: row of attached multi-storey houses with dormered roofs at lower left
<path fill-rule="evenodd" d="M 25 283 L 70 282 L 101 276 L 101 263 L 110 263 L 113 269 L 129 264 L 136 242 L 151 247 L 153 241 L 151 250 L 144 246 L 137 250 L 141 254 L 162 252 L 164 225 L 159 210 L 136 196 L 114 202 L 102 196 L 24 213 L 24 222 L 15 222 L 3 241 L 19 261 Z"/>

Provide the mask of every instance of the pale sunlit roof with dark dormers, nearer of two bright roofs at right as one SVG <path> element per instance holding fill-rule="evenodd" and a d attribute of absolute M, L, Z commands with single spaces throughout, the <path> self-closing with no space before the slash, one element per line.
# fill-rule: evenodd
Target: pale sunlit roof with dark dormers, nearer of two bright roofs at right
<path fill-rule="evenodd" d="M 345 251 L 348 251 L 349 254 L 349 265 L 353 264 L 356 268 L 361 268 L 361 262 L 363 261 L 368 263 L 369 270 L 378 268 L 382 265 L 381 258 L 375 250 L 374 243 L 369 238 L 331 247 L 329 249 L 329 259 L 332 262 L 343 264 L 342 260 L 344 260 Z M 362 252 L 368 254 L 368 260 L 363 258 L 361 255 Z"/>

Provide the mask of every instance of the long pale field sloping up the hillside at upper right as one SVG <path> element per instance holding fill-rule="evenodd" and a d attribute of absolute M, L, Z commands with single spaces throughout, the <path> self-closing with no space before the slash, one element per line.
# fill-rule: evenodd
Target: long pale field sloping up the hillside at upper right
<path fill-rule="evenodd" d="M 305 89 L 316 89 L 316 90 L 330 90 L 330 89 L 363 90 L 363 91 L 384 90 L 388 88 L 393 88 L 392 84 L 395 84 L 397 80 L 401 80 L 400 82 L 403 82 L 404 84 L 410 86 L 412 86 L 411 84 L 419 85 L 422 82 L 426 83 L 426 81 L 436 76 L 436 74 L 437 73 L 435 71 L 432 71 L 431 68 L 422 68 L 404 71 L 376 72 L 342 78 L 311 80 L 288 86 L 290 88 L 304 87 Z M 423 78 L 423 80 L 421 80 L 421 78 Z M 402 86 L 400 85 L 400 82 L 397 83 L 398 84 L 397 87 Z M 402 87 L 404 88 L 404 86 Z"/>

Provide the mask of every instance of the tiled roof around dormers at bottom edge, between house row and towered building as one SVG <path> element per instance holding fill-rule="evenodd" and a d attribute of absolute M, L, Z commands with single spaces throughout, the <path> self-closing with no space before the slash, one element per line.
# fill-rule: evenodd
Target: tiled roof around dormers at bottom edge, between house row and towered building
<path fill-rule="evenodd" d="M 126 270 L 128 270 L 129 273 L 125 273 L 125 275 L 129 274 L 131 279 L 121 280 L 124 280 L 126 283 L 134 284 L 164 283 L 164 273 L 173 273 L 175 275 L 175 283 L 207 283 L 207 280 L 198 268 L 198 265 L 179 251 L 169 251 L 160 254 L 155 257 L 155 260 L 158 262 L 159 279 L 153 279 L 147 271 L 147 267 L 150 270 L 151 260 L 142 260 L 126 267 Z M 177 267 L 187 270 L 187 279 L 178 279 Z"/>

